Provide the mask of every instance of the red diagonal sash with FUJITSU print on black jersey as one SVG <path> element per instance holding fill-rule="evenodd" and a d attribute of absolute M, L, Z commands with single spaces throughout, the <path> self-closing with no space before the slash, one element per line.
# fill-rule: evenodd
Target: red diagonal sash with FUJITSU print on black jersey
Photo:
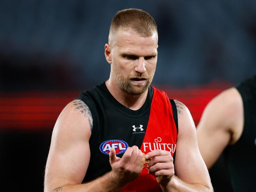
<path fill-rule="evenodd" d="M 154 88 L 148 127 L 140 150 L 147 154 L 155 149 L 170 151 L 173 157 L 176 151 L 177 129 L 172 113 L 172 105 L 166 93 Z M 126 192 L 159 192 L 160 185 L 148 170 L 143 168 L 139 177 L 121 189 Z"/>

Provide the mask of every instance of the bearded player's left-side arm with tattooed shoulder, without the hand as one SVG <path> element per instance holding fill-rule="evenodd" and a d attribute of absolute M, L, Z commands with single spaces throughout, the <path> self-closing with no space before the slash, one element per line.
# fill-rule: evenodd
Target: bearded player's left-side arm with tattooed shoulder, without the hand
<path fill-rule="evenodd" d="M 113 172 L 81 184 L 90 162 L 92 115 L 80 100 L 69 103 L 58 117 L 45 167 L 45 192 L 117 191 Z M 130 149 L 131 150 L 131 149 Z"/>

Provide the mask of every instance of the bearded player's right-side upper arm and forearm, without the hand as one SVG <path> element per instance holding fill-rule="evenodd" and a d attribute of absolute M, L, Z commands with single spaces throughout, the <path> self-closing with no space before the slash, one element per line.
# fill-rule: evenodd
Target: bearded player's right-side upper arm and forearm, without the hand
<path fill-rule="evenodd" d="M 206 164 L 200 155 L 196 128 L 188 108 L 175 101 L 178 110 L 179 134 L 172 177 L 163 191 L 213 191 Z"/>

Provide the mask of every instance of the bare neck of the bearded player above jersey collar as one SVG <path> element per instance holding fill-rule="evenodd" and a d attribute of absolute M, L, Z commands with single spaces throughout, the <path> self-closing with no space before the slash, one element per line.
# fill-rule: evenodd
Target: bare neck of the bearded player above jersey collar
<path fill-rule="evenodd" d="M 122 91 L 118 86 L 111 83 L 110 80 L 107 80 L 105 84 L 108 91 L 116 99 L 116 101 L 131 110 L 138 110 L 141 108 L 147 99 L 148 89 L 140 95 L 132 95 Z"/>

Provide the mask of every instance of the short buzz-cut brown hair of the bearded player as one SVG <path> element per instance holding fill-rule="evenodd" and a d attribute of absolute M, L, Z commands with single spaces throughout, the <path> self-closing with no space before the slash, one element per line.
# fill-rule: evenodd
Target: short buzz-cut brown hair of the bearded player
<path fill-rule="evenodd" d="M 132 29 L 143 37 L 157 33 L 157 24 L 149 13 L 141 9 L 123 9 L 116 13 L 112 19 L 109 34 L 119 29 Z"/>

